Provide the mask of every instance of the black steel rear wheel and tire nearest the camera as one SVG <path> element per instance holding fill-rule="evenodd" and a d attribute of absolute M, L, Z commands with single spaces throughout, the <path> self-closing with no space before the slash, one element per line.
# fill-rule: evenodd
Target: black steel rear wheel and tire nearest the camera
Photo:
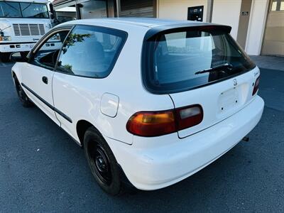
<path fill-rule="evenodd" d="M 94 179 L 109 195 L 122 191 L 121 174 L 116 158 L 102 135 L 90 127 L 84 134 L 84 153 Z"/>

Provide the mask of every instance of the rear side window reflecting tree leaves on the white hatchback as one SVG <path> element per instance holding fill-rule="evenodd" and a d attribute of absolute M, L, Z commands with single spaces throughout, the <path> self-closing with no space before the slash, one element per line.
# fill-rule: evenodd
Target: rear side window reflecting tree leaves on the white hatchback
<path fill-rule="evenodd" d="M 107 77 L 125 40 L 123 31 L 76 26 L 63 45 L 57 70 L 82 77 Z"/>

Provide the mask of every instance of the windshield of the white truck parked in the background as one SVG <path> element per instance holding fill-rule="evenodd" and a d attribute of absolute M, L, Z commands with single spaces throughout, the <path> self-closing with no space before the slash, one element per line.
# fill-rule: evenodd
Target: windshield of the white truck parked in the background
<path fill-rule="evenodd" d="M 45 4 L 0 2 L 0 18 L 49 18 Z"/>

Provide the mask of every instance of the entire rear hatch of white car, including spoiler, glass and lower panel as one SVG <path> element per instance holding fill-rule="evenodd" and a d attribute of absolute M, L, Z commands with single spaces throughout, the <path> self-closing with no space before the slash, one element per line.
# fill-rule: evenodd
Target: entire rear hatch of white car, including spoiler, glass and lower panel
<path fill-rule="evenodd" d="M 203 109 L 202 122 L 178 131 L 180 138 L 217 124 L 253 99 L 259 70 L 230 30 L 216 25 L 156 30 L 144 46 L 146 89 L 169 94 L 175 108 Z"/>

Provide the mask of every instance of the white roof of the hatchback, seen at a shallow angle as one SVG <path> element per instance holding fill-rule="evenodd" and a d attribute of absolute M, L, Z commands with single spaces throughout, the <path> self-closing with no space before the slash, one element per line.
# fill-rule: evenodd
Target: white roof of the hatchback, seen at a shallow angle
<path fill-rule="evenodd" d="M 178 25 L 178 24 L 190 24 L 190 26 L 195 25 L 207 25 L 208 23 L 201 23 L 197 21 L 179 21 L 179 20 L 168 20 L 168 19 L 160 19 L 160 18 L 90 18 L 90 19 L 80 19 L 76 21 L 68 21 L 66 23 L 61 24 L 97 24 L 98 22 L 102 23 L 121 23 L 131 26 L 143 26 L 146 28 L 153 28 L 157 26 L 170 26 L 170 25 Z"/>

